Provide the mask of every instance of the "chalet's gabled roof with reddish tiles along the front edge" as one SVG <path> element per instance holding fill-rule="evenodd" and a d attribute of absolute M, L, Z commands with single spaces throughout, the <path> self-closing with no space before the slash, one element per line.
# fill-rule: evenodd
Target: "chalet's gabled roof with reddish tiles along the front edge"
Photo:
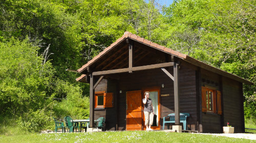
<path fill-rule="evenodd" d="M 90 60 L 87 64 L 83 65 L 77 71 L 79 73 L 83 73 L 84 70 L 86 70 L 89 66 L 94 64 L 104 54 L 108 53 L 112 48 L 114 48 L 116 45 L 118 45 L 120 42 L 122 42 L 123 40 L 125 40 L 127 38 L 132 39 L 132 40 L 137 41 L 137 42 L 140 42 L 140 43 L 142 43 L 144 45 L 147 45 L 147 46 L 150 46 L 152 48 L 155 48 L 155 49 L 157 49 L 159 51 L 162 51 L 162 52 L 165 52 L 165 53 L 177 56 L 178 58 L 180 58 L 180 59 L 182 59 L 182 60 L 184 60 L 184 61 L 186 61 L 188 63 L 191 63 L 191 64 L 193 64 L 195 66 L 198 66 L 200 68 L 209 70 L 211 72 L 214 72 L 214 73 L 217 73 L 217 74 L 229 77 L 231 79 L 234 79 L 234 80 L 246 83 L 246 84 L 253 84 L 253 82 L 251 82 L 249 80 L 246 80 L 246 79 L 241 78 L 241 77 L 239 77 L 237 75 L 234 75 L 234 74 L 228 73 L 226 71 L 223 71 L 221 69 L 218 69 L 218 68 L 212 67 L 210 65 L 207 65 L 207 64 L 205 64 L 205 63 L 203 63 L 201 61 L 198 61 L 198 60 L 196 60 L 194 58 L 191 58 L 190 56 L 188 56 L 186 54 L 183 54 L 183 53 L 180 53 L 178 51 L 172 50 L 170 48 L 166 48 L 164 46 L 158 45 L 158 44 L 153 43 L 151 41 L 148 41 L 148 40 L 146 40 L 144 38 L 141 38 L 141 37 L 139 37 L 139 36 L 137 36 L 135 34 L 132 34 L 130 32 L 125 32 L 124 35 L 121 38 L 117 39 L 116 42 L 112 43 L 109 47 L 105 48 L 102 52 L 100 52 L 98 55 L 96 55 L 92 60 Z M 86 77 L 86 74 L 82 74 L 80 77 L 76 78 L 76 81 L 82 81 L 82 80 L 84 80 L 84 77 Z"/>

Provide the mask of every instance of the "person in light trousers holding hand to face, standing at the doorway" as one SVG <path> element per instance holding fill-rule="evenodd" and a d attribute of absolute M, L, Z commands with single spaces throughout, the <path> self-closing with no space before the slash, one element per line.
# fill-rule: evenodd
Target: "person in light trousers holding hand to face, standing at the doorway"
<path fill-rule="evenodd" d="M 150 92 L 145 92 L 144 93 L 145 98 L 142 99 L 142 102 L 144 104 L 144 116 L 145 116 L 145 126 L 146 130 L 150 131 L 153 130 L 151 129 L 151 125 L 153 124 L 153 119 L 154 119 L 154 109 L 153 109 L 153 104 L 152 100 L 150 99 Z"/>

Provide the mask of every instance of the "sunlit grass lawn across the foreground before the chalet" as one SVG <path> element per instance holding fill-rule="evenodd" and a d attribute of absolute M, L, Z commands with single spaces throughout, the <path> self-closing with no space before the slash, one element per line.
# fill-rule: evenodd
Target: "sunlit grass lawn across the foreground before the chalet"
<path fill-rule="evenodd" d="M 18 142 L 255 142 L 255 140 L 164 131 L 115 131 L 0 135 L 1 143 Z"/>

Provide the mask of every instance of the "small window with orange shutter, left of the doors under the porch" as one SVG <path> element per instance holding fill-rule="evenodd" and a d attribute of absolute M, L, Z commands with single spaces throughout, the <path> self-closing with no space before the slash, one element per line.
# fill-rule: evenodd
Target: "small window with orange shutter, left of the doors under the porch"
<path fill-rule="evenodd" d="M 114 93 L 95 92 L 95 108 L 114 107 Z"/>

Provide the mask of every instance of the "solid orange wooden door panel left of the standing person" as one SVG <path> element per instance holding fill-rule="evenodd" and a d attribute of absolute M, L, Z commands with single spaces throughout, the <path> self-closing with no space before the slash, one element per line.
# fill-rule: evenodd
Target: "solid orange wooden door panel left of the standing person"
<path fill-rule="evenodd" d="M 142 129 L 141 91 L 126 92 L 126 130 Z"/>

